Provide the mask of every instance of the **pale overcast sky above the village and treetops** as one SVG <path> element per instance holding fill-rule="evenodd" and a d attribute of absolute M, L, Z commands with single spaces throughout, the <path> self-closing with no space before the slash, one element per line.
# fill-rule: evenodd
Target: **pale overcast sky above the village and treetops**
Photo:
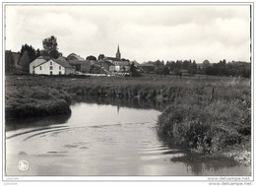
<path fill-rule="evenodd" d="M 144 61 L 250 61 L 249 6 L 7 6 L 6 49 L 42 48 L 55 35 L 64 56 L 103 53 Z"/>

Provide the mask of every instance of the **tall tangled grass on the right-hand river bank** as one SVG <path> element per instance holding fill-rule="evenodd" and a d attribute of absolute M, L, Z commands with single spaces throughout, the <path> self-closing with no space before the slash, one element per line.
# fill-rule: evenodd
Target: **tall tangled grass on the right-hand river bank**
<path fill-rule="evenodd" d="M 222 152 L 237 144 L 249 146 L 250 105 L 250 87 L 245 82 L 199 86 L 162 112 L 157 131 L 163 142 L 200 154 Z"/>

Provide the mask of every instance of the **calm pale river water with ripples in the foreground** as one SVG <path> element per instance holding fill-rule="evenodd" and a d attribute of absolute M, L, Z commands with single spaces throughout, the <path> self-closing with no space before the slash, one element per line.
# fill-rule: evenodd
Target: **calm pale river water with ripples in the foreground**
<path fill-rule="evenodd" d="M 98 101 L 71 109 L 69 116 L 6 124 L 7 175 L 250 175 L 250 167 L 231 158 L 163 145 L 157 109 Z"/>

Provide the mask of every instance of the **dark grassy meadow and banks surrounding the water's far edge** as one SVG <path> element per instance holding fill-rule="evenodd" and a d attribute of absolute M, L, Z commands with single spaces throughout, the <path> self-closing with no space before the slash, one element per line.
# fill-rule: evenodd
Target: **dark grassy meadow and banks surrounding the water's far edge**
<path fill-rule="evenodd" d="M 160 105 L 156 131 L 164 144 L 185 146 L 200 155 L 232 156 L 250 164 L 250 79 L 7 75 L 5 81 L 6 119 L 70 113 L 75 95 L 150 100 Z"/>

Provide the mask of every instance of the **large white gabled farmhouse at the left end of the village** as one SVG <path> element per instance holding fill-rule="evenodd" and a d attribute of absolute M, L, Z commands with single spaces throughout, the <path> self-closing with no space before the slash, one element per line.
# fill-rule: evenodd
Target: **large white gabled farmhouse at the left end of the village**
<path fill-rule="evenodd" d="M 48 59 L 40 56 L 30 64 L 30 73 L 38 75 L 68 75 L 75 74 L 75 68 L 64 57 Z"/>

